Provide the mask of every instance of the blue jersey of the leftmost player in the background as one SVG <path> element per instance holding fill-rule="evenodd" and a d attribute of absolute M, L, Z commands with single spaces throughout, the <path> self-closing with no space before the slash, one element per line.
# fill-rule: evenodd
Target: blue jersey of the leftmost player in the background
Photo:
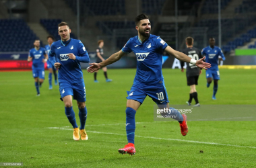
<path fill-rule="evenodd" d="M 36 48 L 30 50 L 28 56 L 32 57 L 32 69 L 44 70 L 44 62 L 42 62 L 44 54 L 46 54 L 46 50 L 42 47 L 39 50 L 36 50 Z"/>

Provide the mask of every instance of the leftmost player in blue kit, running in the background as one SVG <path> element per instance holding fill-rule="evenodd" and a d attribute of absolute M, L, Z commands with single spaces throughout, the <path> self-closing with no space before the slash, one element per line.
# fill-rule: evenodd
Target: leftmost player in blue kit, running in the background
<path fill-rule="evenodd" d="M 36 86 L 37 91 L 36 96 L 40 96 L 39 87 L 41 87 L 44 82 L 44 63 L 47 62 L 47 59 L 48 54 L 44 48 L 40 47 L 40 40 L 34 40 L 34 48 L 32 48 L 28 54 L 28 62 L 31 60 L 33 62 L 32 73 L 34 77 L 34 85 Z"/>

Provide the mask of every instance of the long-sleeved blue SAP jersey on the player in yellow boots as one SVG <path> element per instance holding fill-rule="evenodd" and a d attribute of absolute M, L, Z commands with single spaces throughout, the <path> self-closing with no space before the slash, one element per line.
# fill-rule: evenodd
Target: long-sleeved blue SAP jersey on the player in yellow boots
<path fill-rule="evenodd" d="M 75 60 L 69 59 L 67 54 L 73 53 Z M 84 81 L 80 62 L 90 61 L 88 52 L 80 40 L 71 38 L 67 42 L 61 40 L 53 42 L 49 52 L 49 60 L 54 65 L 55 62 L 61 63 L 59 68 L 59 83 L 80 83 Z"/>

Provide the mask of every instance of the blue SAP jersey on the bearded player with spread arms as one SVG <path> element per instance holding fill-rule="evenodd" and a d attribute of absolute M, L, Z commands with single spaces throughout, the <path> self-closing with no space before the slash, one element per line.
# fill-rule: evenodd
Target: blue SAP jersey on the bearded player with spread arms
<path fill-rule="evenodd" d="M 164 40 L 152 34 L 143 42 L 138 36 L 129 39 L 122 51 L 134 52 L 137 58 L 137 72 L 133 85 L 141 89 L 163 87 L 162 52 L 167 46 Z"/>

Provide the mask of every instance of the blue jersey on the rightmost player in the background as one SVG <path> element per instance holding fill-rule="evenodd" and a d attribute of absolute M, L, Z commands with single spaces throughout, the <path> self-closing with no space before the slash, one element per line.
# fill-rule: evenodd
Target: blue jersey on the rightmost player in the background
<path fill-rule="evenodd" d="M 201 53 L 202 55 L 205 55 L 205 62 L 208 62 L 212 65 L 212 67 L 210 68 L 211 71 L 218 71 L 219 56 L 221 56 L 223 60 L 226 59 L 222 50 L 218 46 L 214 46 L 214 48 L 207 46 L 203 48 Z"/>

